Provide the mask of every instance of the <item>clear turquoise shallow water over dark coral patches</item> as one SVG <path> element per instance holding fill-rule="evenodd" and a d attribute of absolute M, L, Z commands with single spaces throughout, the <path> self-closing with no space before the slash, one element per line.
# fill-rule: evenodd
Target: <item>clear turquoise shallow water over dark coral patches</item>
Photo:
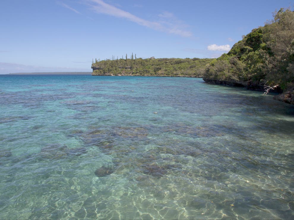
<path fill-rule="evenodd" d="M 293 219 L 294 106 L 197 78 L 0 75 L 0 219 Z"/>

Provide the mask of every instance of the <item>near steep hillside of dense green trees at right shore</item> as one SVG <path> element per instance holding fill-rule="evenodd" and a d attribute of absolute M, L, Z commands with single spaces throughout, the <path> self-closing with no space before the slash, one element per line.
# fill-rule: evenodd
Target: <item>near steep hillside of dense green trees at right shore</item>
<path fill-rule="evenodd" d="M 227 54 L 212 60 L 203 80 L 282 90 L 276 99 L 294 104 L 294 12 L 282 8 L 273 20 L 243 36 Z"/>

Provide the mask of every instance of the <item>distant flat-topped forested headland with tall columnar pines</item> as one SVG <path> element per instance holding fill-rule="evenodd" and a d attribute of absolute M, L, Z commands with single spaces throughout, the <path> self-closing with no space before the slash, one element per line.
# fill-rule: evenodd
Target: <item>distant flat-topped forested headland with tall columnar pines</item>
<path fill-rule="evenodd" d="M 203 77 L 206 65 L 213 59 L 200 58 L 135 58 L 96 60 L 92 75 L 122 76 L 188 76 Z"/>

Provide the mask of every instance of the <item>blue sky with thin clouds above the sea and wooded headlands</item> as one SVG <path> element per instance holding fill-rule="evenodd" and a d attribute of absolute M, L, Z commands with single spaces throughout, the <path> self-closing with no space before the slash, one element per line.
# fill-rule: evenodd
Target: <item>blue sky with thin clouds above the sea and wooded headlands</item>
<path fill-rule="evenodd" d="M 92 59 L 216 58 L 293 0 L 0 0 L 0 74 Z"/>

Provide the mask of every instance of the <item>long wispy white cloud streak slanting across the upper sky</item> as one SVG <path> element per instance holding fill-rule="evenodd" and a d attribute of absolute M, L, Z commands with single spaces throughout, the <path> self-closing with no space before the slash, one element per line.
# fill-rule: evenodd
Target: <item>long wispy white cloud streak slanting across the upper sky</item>
<path fill-rule="evenodd" d="M 122 9 L 119 9 L 113 5 L 107 4 L 102 0 L 90 0 L 92 4 L 89 4 L 91 9 L 99 14 L 105 14 L 110 15 L 114 17 L 124 18 L 129 21 L 135 22 L 139 25 L 145 26 L 147 28 L 151 28 L 157 31 L 163 31 L 170 34 L 176 34 L 183 37 L 190 37 L 192 36 L 192 33 L 189 31 L 185 31 L 178 27 L 178 25 L 171 26 L 166 25 L 164 22 L 155 22 L 155 21 L 149 21 L 140 17 L 137 17 L 136 15 L 133 15 L 129 12 L 126 12 Z M 162 14 L 167 15 L 167 13 Z"/>

